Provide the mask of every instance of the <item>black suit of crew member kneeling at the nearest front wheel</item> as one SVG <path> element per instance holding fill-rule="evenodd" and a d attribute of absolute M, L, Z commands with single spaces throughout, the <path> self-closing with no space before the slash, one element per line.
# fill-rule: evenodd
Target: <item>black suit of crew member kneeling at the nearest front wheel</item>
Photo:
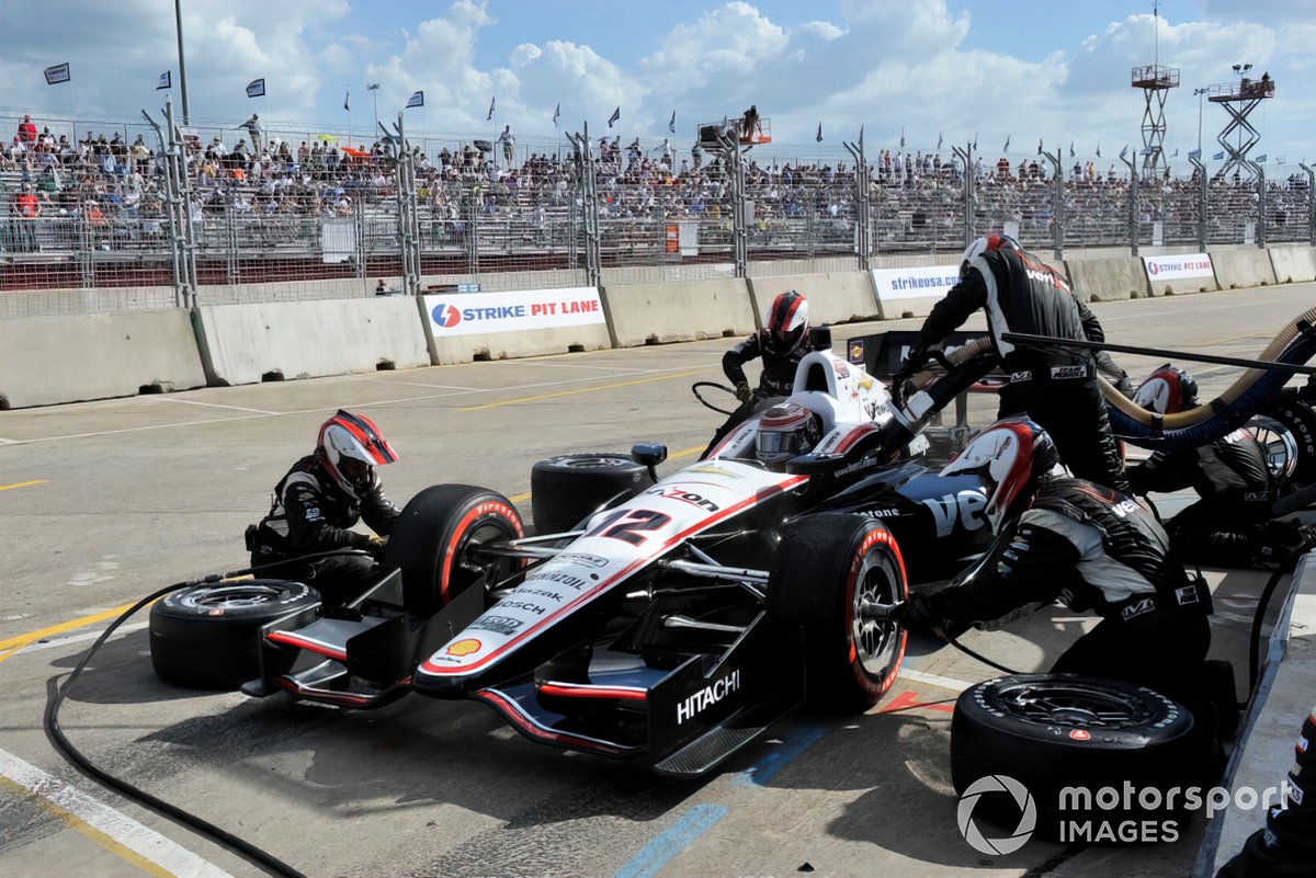
<path fill-rule="evenodd" d="M 913 594 L 896 619 L 919 630 L 998 627 L 1059 601 L 1101 622 L 1051 666 L 1203 703 L 1211 595 L 1184 573 L 1170 538 L 1136 499 L 1082 478 L 1045 478 L 980 572 Z"/>

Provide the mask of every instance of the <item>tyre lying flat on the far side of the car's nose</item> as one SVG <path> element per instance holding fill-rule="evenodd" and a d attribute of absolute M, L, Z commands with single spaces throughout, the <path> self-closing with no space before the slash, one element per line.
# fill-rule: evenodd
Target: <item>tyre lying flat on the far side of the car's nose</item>
<path fill-rule="evenodd" d="M 634 497 L 649 485 L 649 468 L 629 455 L 558 455 L 530 468 L 530 517 L 537 534 L 570 531 L 611 502 Z"/>

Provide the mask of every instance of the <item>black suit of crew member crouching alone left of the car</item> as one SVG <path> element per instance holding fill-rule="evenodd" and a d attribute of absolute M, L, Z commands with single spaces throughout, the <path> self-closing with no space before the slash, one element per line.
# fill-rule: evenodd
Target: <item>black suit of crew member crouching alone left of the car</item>
<path fill-rule="evenodd" d="M 370 551 L 370 536 L 347 528 L 363 519 L 376 534 L 387 536 L 399 514 L 384 496 L 378 474 L 372 474 L 370 490 L 358 501 L 338 488 L 318 456 L 309 455 L 279 480 L 270 514 L 249 528 L 251 565 L 287 560 L 261 574 L 300 580 L 320 591 L 326 605 L 346 603 L 378 578 L 374 559 L 362 555 L 297 559 L 332 549 Z"/>

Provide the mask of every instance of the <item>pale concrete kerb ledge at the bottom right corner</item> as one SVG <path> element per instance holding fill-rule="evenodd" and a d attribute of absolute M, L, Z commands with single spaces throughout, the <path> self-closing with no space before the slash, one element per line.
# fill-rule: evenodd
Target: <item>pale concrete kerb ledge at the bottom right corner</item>
<path fill-rule="evenodd" d="M 1299 561 L 1287 601 L 1270 637 L 1244 732 L 1223 785 L 1266 790 L 1283 783 L 1294 762 L 1294 743 L 1316 702 L 1316 552 Z M 1265 808 L 1227 808 L 1212 819 L 1194 878 L 1211 878 L 1265 825 Z"/>

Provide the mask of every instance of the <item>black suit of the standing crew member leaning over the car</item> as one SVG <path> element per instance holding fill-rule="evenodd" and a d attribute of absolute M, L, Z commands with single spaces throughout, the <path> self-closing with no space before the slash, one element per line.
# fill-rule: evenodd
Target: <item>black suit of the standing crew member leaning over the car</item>
<path fill-rule="evenodd" d="M 919 330 L 919 347 L 938 343 L 979 308 L 987 313 L 992 346 L 1011 376 L 1000 392 L 998 418 L 1026 411 L 1050 434 L 1075 476 L 1128 492 L 1092 354 L 1042 352 L 1001 339 L 1004 333 L 1028 333 L 1103 342 L 1105 334 L 1092 312 L 1063 277 L 1030 254 L 992 250 L 970 263 L 963 280 L 933 306 Z"/>

